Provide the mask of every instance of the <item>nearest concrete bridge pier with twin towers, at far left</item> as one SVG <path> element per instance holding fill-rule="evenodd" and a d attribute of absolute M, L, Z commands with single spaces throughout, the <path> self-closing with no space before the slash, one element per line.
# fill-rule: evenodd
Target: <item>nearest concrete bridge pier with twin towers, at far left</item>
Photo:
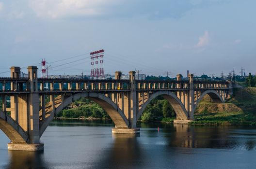
<path fill-rule="evenodd" d="M 20 73 L 19 71 L 20 69 L 18 67 L 12 67 L 11 77 L 17 78 Z M 39 134 L 37 67 L 28 67 L 28 74 L 27 89 L 30 90 L 30 93 L 11 98 L 10 108 L 11 117 L 15 120 L 18 127 L 21 127 L 20 130 L 24 132 L 24 141 L 11 140 L 8 143 L 8 150 L 41 151 L 44 149 L 44 144 L 40 143 Z M 22 87 L 22 85 L 19 87 Z M 14 87 L 14 90 L 17 90 L 17 88 Z"/>

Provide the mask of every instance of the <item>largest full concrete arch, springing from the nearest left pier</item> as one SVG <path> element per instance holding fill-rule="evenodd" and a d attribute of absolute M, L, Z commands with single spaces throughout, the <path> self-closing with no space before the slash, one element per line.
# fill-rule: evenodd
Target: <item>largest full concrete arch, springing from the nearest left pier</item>
<path fill-rule="evenodd" d="M 111 117 L 113 123 L 115 124 L 115 127 L 117 128 L 128 128 L 129 127 L 129 121 L 125 114 L 122 112 L 120 108 L 110 99 L 109 97 L 106 97 L 104 94 L 96 93 L 96 92 L 90 92 L 90 93 L 76 93 L 72 96 L 69 96 L 64 99 L 64 102 L 62 102 L 57 108 L 55 108 L 55 114 L 58 114 L 61 112 L 67 105 L 71 104 L 72 102 L 80 99 L 80 98 L 88 98 L 93 101 L 95 101 L 97 104 L 99 104 L 106 113 L 109 114 Z M 54 113 L 51 112 L 50 115 L 45 119 L 45 122 L 40 127 L 40 137 L 44 133 L 45 129 L 48 127 L 50 122 L 54 118 Z"/>

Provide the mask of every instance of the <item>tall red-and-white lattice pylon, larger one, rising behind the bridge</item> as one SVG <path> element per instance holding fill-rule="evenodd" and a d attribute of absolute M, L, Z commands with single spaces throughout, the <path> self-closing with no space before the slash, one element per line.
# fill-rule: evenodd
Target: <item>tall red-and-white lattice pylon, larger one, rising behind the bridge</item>
<path fill-rule="evenodd" d="M 99 51 L 91 52 L 90 55 L 91 55 L 91 66 L 92 66 L 91 77 L 96 79 L 98 78 L 103 79 L 105 76 L 104 68 L 102 68 L 104 50 L 101 49 Z"/>

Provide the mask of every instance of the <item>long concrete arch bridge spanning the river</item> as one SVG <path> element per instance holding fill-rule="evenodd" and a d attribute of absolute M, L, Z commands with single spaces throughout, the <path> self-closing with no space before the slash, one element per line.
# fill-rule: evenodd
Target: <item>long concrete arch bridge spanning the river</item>
<path fill-rule="evenodd" d="M 175 110 L 175 123 L 193 120 L 200 100 L 209 95 L 216 103 L 223 103 L 232 94 L 226 81 L 194 81 L 193 75 L 183 80 L 122 80 L 122 72 L 115 72 L 114 80 L 48 79 L 37 77 L 37 67 L 28 67 L 28 78 L 21 78 L 19 67 L 11 67 L 11 77 L 0 77 L 0 129 L 11 140 L 9 150 L 42 150 L 40 137 L 55 115 L 81 97 L 98 103 L 112 118 L 113 133 L 139 133 L 136 122 L 146 106 L 157 96 L 163 96 Z M 50 88 L 45 90 L 46 84 Z M 10 86 L 8 88 L 8 86 Z M 50 101 L 46 102 L 46 96 Z M 9 99 L 10 98 L 10 99 Z M 10 100 L 10 102 L 7 102 Z"/>

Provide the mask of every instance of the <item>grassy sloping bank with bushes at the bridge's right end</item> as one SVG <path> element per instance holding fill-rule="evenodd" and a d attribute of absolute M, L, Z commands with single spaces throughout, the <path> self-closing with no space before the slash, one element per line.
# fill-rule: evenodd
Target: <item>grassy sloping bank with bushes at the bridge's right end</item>
<path fill-rule="evenodd" d="M 194 113 L 192 125 L 256 125 L 256 88 L 234 89 L 226 103 L 205 97 Z"/>

